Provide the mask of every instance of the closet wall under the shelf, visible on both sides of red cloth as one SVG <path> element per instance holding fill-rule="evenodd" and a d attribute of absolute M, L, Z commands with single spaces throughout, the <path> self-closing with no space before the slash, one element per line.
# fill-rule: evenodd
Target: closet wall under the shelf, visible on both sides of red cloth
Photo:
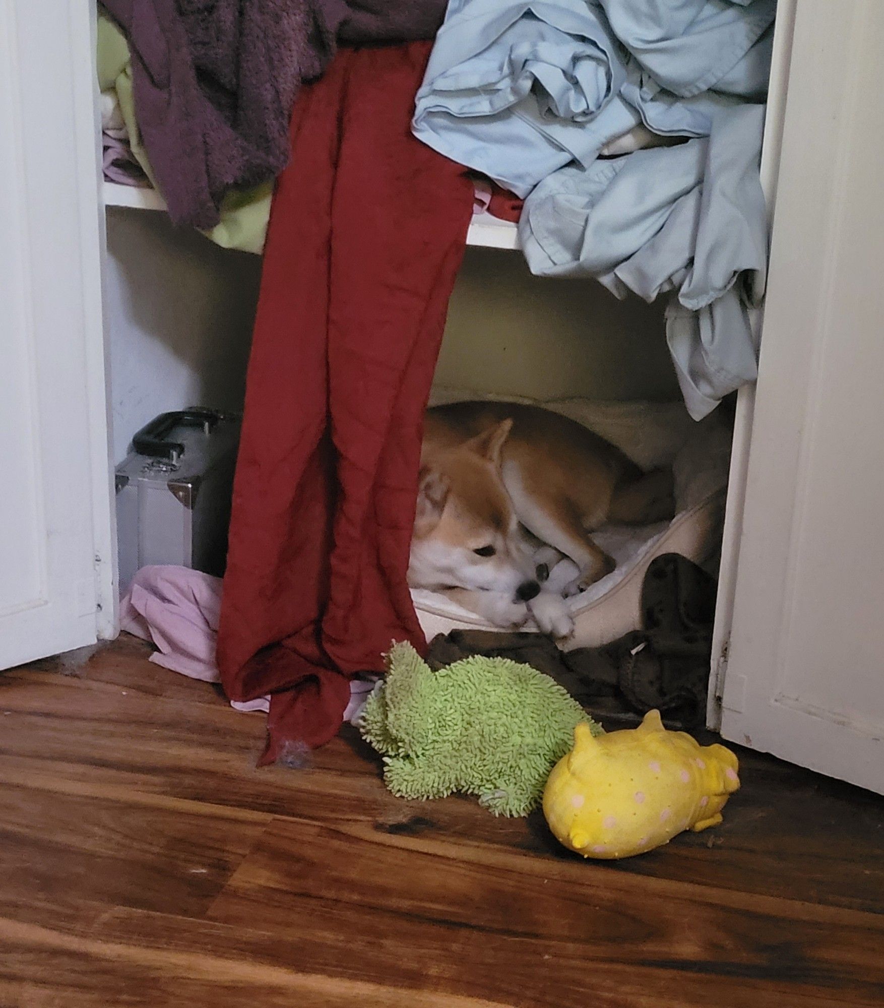
<path fill-rule="evenodd" d="M 162 212 L 109 208 L 105 274 L 113 458 L 158 412 L 242 408 L 260 280 Z M 468 248 L 438 384 L 541 399 L 676 400 L 662 314 L 593 281 L 537 279 L 520 252 Z"/>

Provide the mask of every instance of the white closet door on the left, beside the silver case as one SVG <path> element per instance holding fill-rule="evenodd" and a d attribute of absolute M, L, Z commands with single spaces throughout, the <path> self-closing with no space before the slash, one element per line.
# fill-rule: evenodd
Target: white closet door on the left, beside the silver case
<path fill-rule="evenodd" d="M 0 667 L 114 628 L 94 4 L 0 0 Z"/>

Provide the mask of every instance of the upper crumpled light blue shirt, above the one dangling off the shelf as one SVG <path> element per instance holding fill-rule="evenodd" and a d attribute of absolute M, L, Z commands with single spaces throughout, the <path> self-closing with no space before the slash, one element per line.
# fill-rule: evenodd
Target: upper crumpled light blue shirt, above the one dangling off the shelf
<path fill-rule="evenodd" d="M 775 5 L 451 0 L 414 134 L 520 197 L 639 122 L 706 136 L 717 108 L 763 99 Z"/>

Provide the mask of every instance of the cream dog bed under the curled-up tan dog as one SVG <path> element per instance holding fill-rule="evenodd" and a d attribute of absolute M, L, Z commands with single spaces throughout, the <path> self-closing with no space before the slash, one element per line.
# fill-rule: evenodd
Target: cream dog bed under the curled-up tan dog
<path fill-rule="evenodd" d="M 480 396 L 437 389 L 431 404 L 476 398 Z M 563 399 L 538 405 L 583 423 L 616 445 L 642 469 L 672 467 L 674 518 L 652 525 L 606 525 L 599 529 L 594 538 L 614 557 L 617 568 L 586 592 L 565 601 L 574 617 L 575 633 L 562 642 L 562 647 L 565 650 L 599 647 L 640 629 L 642 583 L 655 556 L 680 553 L 708 570 L 718 563 L 731 429 L 718 413 L 701 423 L 694 422 L 681 403 Z M 550 574 L 550 584 L 564 585 L 576 573 L 571 560 L 562 560 Z M 500 629 L 441 593 L 415 589 L 411 595 L 428 640 L 457 629 Z M 522 629 L 536 630 L 536 627 L 529 621 Z"/>

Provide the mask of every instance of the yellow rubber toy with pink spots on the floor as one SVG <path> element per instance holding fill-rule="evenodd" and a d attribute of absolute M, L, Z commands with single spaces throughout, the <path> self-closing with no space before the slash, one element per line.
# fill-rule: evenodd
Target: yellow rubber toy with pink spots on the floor
<path fill-rule="evenodd" d="M 581 724 L 546 781 L 543 814 L 555 838 L 585 858 L 629 858 L 682 830 L 718 826 L 740 786 L 737 770 L 730 749 L 667 732 L 658 711 L 638 728 L 597 738 Z"/>

